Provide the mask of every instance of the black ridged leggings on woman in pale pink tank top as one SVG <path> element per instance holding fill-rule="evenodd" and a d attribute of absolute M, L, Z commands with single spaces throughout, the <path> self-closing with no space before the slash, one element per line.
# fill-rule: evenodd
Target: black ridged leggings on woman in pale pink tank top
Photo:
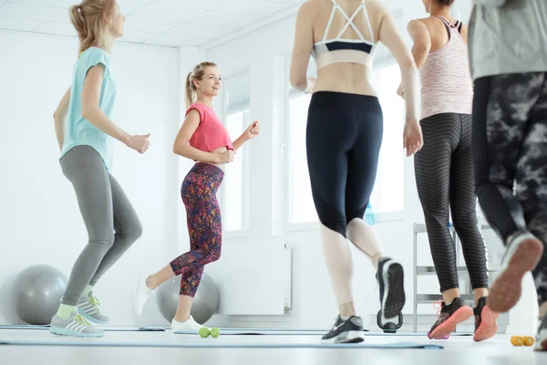
<path fill-rule="evenodd" d="M 436 114 L 420 124 L 424 147 L 414 158 L 414 171 L 440 291 L 459 287 L 456 249 L 449 234 L 449 208 L 471 287 L 488 287 L 486 246 L 475 211 L 471 116 Z"/>

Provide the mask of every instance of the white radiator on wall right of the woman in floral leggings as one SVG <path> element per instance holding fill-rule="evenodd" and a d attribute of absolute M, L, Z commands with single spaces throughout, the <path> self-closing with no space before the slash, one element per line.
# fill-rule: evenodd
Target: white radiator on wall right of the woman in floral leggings
<path fill-rule="evenodd" d="M 205 266 L 219 287 L 220 315 L 284 315 L 291 308 L 292 245 L 282 239 L 226 240 Z"/>

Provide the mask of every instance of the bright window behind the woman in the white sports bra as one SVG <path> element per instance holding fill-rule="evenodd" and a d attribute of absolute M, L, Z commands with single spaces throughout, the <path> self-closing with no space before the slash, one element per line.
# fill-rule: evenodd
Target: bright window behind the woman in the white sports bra
<path fill-rule="evenodd" d="M 373 72 L 372 82 L 384 114 L 384 137 L 370 203 L 375 214 L 386 214 L 401 212 L 404 207 L 404 151 L 401 143 L 405 108 L 404 100 L 396 93 L 400 82 L 397 64 L 393 65 L 391 61 L 380 65 Z M 310 99 L 311 95 L 294 89 L 290 89 L 288 93 L 288 224 L 304 224 L 317 220 L 305 152 L 305 126 Z"/>

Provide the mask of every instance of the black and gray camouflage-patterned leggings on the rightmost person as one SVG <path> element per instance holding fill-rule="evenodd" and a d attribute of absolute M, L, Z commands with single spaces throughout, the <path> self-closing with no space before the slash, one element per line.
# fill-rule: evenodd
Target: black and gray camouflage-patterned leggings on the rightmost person
<path fill-rule="evenodd" d="M 547 243 L 547 74 L 508 74 L 475 81 L 473 159 L 477 195 L 506 243 L 528 230 Z M 540 306 L 547 302 L 547 250 L 533 271 Z"/>

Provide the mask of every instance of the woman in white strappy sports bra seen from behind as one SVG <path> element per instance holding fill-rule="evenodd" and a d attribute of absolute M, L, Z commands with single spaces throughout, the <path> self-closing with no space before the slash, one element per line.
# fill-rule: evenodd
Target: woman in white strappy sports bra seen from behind
<path fill-rule="evenodd" d="M 308 0 L 298 12 L 291 84 L 313 92 L 306 128 L 307 162 L 326 266 L 339 308 L 335 325 L 323 336 L 328 343 L 363 340 L 363 321 L 354 308 L 353 266 L 346 238 L 377 268 L 383 318 L 396 317 L 405 305 L 403 267 L 383 254 L 377 235 L 363 220 L 384 128 L 382 109 L 370 82 L 378 41 L 396 58 L 408 90 L 403 146 L 410 156 L 422 146 L 418 75 L 387 9 L 378 0 Z M 312 55 L 318 68 L 316 83 L 306 79 Z"/>

